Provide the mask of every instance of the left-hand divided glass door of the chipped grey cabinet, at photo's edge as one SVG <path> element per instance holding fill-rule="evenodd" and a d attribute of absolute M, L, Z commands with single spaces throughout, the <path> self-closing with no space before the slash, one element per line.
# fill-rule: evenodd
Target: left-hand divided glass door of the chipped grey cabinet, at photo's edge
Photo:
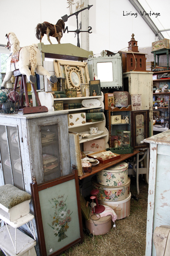
<path fill-rule="evenodd" d="M 4 183 L 24 190 L 17 127 L 0 125 L 0 155 Z"/>

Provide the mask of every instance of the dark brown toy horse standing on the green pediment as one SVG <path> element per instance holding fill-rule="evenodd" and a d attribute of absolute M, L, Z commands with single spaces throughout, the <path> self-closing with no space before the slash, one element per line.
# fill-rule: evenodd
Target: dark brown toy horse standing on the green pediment
<path fill-rule="evenodd" d="M 62 30 L 65 29 L 65 23 L 62 19 L 59 19 L 56 23 L 56 25 L 53 25 L 49 22 L 43 22 L 43 23 L 39 23 L 36 27 L 36 38 L 38 40 L 41 40 L 44 37 L 44 34 L 47 34 L 47 39 L 48 41 L 51 43 L 50 38 L 49 37 L 55 37 L 58 44 L 60 44 L 60 40 L 63 36 L 63 32 Z"/>

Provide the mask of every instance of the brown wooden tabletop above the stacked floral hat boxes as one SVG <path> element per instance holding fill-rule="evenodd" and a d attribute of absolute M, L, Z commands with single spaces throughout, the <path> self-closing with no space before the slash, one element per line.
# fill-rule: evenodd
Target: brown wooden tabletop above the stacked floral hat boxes
<path fill-rule="evenodd" d="M 88 172 L 88 173 L 83 174 L 82 176 L 79 176 L 79 180 L 83 180 L 86 177 L 91 176 L 92 174 L 95 174 L 95 173 L 97 173 L 97 172 L 99 172 L 103 169 L 106 169 L 106 168 L 112 166 L 112 165 L 116 165 L 117 163 L 119 163 L 119 162 L 121 162 L 121 161 L 123 161 L 123 160 L 125 160 L 129 157 L 132 157 L 132 156 L 136 155 L 137 153 L 139 153 L 139 150 L 134 150 L 134 152 L 131 153 L 131 154 L 122 154 L 120 156 L 120 158 L 116 161 L 108 162 L 108 163 L 105 163 L 105 164 L 99 163 L 98 165 L 92 167 L 91 172 Z"/>

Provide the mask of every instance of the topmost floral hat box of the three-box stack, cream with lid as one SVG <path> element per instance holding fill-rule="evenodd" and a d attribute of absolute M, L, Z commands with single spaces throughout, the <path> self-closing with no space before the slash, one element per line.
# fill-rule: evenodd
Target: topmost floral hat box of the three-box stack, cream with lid
<path fill-rule="evenodd" d="M 120 162 L 97 173 L 97 182 L 104 186 L 121 186 L 128 181 L 128 163 Z"/>

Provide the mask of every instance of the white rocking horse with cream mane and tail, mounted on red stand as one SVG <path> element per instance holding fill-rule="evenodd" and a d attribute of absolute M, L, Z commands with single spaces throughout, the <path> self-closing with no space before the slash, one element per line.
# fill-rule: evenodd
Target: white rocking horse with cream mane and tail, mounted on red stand
<path fill-rule="evenodd" d="M 41 62 L 41 54 L 38 48 L 30 45 L 20 48 L 19 40 L 13 32 L 6 34 L 7 37 L 7 48 L 10 48 L 10 56 L 6 64 L 6 75 L 4 77 L 1 89 L 5 89 L 5 84 L 11 79 L 14 70 L 19 69 L 22 75 L 26 75 L 28 81 L 31 84 L 36 82 L 36 72 L 39 75 L 44 75 L 51 83 L 57 82 L 55 75 L 50 73 L 43 68 Z M 31 68 L 31 71 L 30 69 Z"/>

